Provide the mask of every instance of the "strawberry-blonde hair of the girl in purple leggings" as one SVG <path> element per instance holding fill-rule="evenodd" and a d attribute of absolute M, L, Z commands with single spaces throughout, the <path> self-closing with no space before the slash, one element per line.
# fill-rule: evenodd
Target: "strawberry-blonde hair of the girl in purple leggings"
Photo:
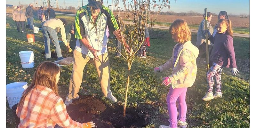
<path fill-rule="evenodd" d="M 191 40 L 191 32 L 186 20 L 175 20 L 169 28 L 169 33 L 178 37 L 179 43 L 186 43 Z"/>

